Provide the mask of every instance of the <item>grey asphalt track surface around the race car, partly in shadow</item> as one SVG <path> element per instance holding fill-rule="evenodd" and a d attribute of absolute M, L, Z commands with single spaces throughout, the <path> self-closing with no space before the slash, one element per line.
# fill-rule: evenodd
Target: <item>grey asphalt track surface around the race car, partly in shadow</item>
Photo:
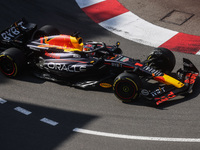
<path fill-rule="evenodd" d="M 128 3 L 124 2 L 124 5 Z M 131 42 L 101 28 L 83 13 L 74 0 L 8 0 L 1 1 L 0 6 L 1 30 L 25 17 L 39 27 L 52 24 L 65 34 L 81 31 L 84 41 L 104 41 L 109 44 L 120 41 L 124 55 L 141 60 L 152 50 L 152 47 Z M 179 27 L 174 28 L 177 30 Z M 200 69 L 199 56 L 174 54 L 177 58 L 175 70 L 182 67 L 183 57 L 191 59 Z M 17 79 L 0 75 L 0 97 L 6 100 L 4 103 L 0 99 L 0 148 L 198 149 L 199 142 L 131 140 L 76 133 L 73 129 L 145 137 L 199 139 L 199 83 L 198 79 L 191 95 L 185 98 L 179 96 L 154 107 L 143 99 L 133 104 L 123 104 L 113 93 L 70 88 L 40 80 L 29 72 Z"/>

